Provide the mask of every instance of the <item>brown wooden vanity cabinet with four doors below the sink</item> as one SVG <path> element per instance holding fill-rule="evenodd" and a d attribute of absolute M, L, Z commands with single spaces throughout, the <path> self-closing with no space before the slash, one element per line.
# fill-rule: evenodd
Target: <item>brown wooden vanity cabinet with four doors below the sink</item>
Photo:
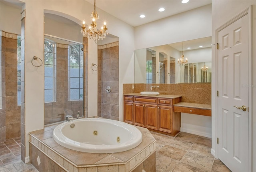
<path fill-rule="evenodd" d="M 180 113 L 173 112 L 172 107 L 180 98 L 131 97 L 124 96 L 124 122 L 171 136 L 180 132 Z"/>

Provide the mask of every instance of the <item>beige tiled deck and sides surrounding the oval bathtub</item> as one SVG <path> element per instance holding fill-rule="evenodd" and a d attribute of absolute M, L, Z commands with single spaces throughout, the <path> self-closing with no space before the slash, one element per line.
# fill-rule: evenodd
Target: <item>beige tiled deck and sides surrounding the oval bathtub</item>
<path fill-rule="evenodd" d="M 39 170 L 47 171 L 49 164 L 55 172 L 154 172 L 156 169 L 156 140 L 142 127 L 142 143 L 131 150 L 112 154 L 93 154 L 64 148 L 52 138 L 57 125 L 29 133 L 30 162 Z"/>

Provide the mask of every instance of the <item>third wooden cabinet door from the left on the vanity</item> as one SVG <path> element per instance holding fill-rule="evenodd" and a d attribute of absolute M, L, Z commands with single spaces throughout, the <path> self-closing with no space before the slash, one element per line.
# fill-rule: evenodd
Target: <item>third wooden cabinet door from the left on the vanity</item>
<path fill-rule="evenodd" d="M 157 105 L 146 104 L 146 121 L 145 126 L 147 128 L 158 129 L 158 118 L 157 118 Z"/>

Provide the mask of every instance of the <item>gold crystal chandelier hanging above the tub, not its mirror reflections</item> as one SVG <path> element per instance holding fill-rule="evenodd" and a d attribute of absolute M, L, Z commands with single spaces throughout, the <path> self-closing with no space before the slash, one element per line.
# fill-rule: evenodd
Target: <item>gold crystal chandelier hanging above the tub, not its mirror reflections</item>
<path fill-rule="evenodd" d="M 90 38 L 94 40 L 95 44 L 97 43 L 97 40 L 103 40 L 103 38 L 106 37 L 106 30 L 108 30 L 106 26 L 106 22 L 104 22 L 104 25 L 101 27 L 100 30 L 97 30 L 97 23 L 96 20 L 100 18 L 98 13 L 96 12 L 96 0 L 94 0 L 94 12 L 92 12 L 91 17 L 92 24 L 90 24 L 89 29 L 86 30 L 85 22 L 83 21 L 81 33 L 83 34 L 83 37 Z"/>

